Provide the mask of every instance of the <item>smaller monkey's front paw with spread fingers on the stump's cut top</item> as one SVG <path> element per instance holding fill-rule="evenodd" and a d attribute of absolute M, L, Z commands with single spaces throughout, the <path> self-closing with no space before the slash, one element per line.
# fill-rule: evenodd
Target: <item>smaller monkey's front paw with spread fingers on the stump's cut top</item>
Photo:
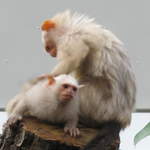
<path fill-rule="evenodd" d="M 64 132 L 69 133 L 70 136 L 73 136 L 73 137 L 80 135 L 80 131 L 76 127 L 64 127 Z"/>

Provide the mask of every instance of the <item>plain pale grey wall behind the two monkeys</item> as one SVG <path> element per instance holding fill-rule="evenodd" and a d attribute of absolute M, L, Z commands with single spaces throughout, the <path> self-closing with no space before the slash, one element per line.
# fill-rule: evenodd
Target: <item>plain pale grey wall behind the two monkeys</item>
<path fill-rule="evenodd" d="M 0 107 L 26 80 L 56 64 L 43 51 L 38 27 L 69 8 L 95 17 L 125 43 L 138 83 L 137 108 L 150 108 L 149 5 L 148 0 L 0 0 Z"/>

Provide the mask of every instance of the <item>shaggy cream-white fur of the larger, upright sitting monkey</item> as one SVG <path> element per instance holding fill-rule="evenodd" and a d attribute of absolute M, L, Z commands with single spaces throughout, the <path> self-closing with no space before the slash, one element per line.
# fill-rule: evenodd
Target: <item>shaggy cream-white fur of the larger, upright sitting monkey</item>
<path fill-rule="evenodd" d="M 126 127 L 131 120 L 136 85 L 122 42 L 84 15 L 66 11 L 51 20 L 56 28 L 42 37 L 44 44 L 47 39 L 57 44 L 59 63 L 51 74 L 73 73 L 86 85 L 79 93 L 80 115 L 85 123 L 116 120 Z"/>

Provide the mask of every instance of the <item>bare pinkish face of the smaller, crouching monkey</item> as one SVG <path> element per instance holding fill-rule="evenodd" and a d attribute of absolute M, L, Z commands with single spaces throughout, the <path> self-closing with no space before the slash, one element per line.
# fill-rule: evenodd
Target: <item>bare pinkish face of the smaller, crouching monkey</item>
<path fill-rule="evenodd" d="M 59 93 L 59 100 L 62 102 L 68 102 L 75 97 L 77 87 L 71 84 L 62 84 Z"/>

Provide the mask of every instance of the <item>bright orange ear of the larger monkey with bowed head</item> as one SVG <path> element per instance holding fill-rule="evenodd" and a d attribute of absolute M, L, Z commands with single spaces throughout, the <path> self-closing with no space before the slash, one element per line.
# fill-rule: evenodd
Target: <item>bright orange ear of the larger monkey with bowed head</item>
<path fill-rule="evenodd" d="M 49 29 L 55 28 L 56 24 L 52 20 L 46 20 L 41 26 L 41 30 L 48 31 Z"/>

